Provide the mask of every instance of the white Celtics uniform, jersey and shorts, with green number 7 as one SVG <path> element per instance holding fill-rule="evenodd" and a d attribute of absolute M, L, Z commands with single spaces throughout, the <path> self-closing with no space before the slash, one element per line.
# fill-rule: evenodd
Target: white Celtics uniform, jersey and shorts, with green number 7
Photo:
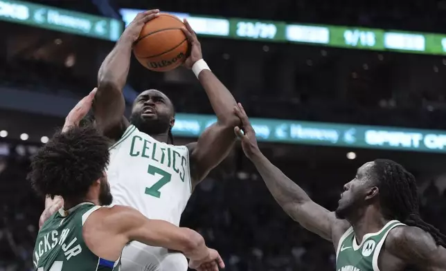
<path fill-rule="evenodd" d="M 189 153 L 186 146 L 155 140 L 130 125 L 110 147 L 107 176 L 113 205 L 138 209 L 150 219 L 179 225 L 190 198 Z M 187 270 L 183 254 L 132 242 L 121 258 L 122 270 Z"/>

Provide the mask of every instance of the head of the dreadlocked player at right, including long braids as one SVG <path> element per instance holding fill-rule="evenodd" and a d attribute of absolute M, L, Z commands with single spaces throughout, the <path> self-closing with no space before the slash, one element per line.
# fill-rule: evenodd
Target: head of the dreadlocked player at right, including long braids
<path fill-rule="evenodd" d="M 336 215 L 350 219 L 360 217 L 366 207 L 375 205 L 384 218 L 420 227 L 438 244 L 446 245 L 446 236 L 422 221 L 418 204 L 415 177 L 397 162 L 378 159 L 360 167 L 355 178 L 344 185 Z"/>

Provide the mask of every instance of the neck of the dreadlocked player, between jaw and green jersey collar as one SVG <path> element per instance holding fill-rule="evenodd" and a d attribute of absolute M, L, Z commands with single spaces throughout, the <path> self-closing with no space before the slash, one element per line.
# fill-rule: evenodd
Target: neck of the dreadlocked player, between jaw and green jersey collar
<path fill-rule="evenodd" d="M 352 219 L 350 224 L 355 232 L 357 243 L 361 243 L 364 235 L 379 232 L 387 222 L 389 220 L 382 216 L 379 209 L 369 207 L 362 212 L 362 215 Z"/>

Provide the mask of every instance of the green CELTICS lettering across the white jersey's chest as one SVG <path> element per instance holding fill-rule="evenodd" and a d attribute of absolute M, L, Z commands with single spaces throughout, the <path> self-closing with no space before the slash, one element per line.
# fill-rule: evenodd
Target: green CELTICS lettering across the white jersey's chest
<path fill-rule="evenodd" d="M 160 147 L 157 142 L 150 142 L 149 140 L 141 138 L 141 136 L 133 136 L 129 154 L 133 157 L 150 159 L 173 169 L 184 182 L 186 167 L 188 166 L 187 159 L 181 156 L 174 148 Z"/>

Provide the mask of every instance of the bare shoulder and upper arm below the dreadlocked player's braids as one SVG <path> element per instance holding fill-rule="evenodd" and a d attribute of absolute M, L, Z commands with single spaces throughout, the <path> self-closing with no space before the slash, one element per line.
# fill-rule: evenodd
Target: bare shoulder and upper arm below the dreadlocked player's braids
<path fill-rule="evenodd" d="M 418 270 L 446 270 L 446 249 L 419 227 L 395 227 L 386 239 L 386 251 Z"/>

